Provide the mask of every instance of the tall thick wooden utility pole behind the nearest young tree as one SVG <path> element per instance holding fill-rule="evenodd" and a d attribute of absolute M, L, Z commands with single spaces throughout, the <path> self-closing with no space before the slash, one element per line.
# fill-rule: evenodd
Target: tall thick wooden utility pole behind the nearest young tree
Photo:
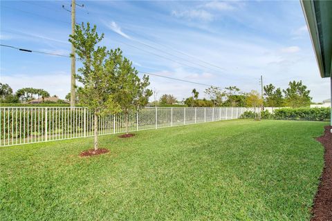
<path fill-rule="evenodd" d="M 71 35 L 75 35 L 75 0 L 71 0 Z M 75 106 L 75 92 L 76 92 L 76 82 L 75 82 L 75 71 L 76 71 L 76 59 L 75 59 L 75 48 L 71 44 L 71 107 Z"/>

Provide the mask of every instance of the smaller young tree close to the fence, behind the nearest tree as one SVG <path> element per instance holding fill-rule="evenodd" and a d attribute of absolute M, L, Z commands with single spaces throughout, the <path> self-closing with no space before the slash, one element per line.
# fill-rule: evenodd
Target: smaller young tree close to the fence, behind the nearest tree
<path fill-rule="evenodd" d="M 120 48 L 114 50 L 120 63 L 114 72 L 116 83 L 116 93 L 114 100 L 119 104 L 124 113 L 125 131 L 129 133 L 129 111 L 138 111 L 149 102 L 152 90 L 149 86 L 149 77 L 144 75 L 142 79 L 138 77 L 138 71 L 133 67 L 131 61 L 122 56 Z"/>

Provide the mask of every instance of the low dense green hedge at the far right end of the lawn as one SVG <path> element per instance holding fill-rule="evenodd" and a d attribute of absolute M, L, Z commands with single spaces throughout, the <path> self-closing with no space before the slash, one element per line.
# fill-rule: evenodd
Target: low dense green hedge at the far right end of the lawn
<path fill-rule="evenodd" d="M 257 113 L 252 111 L 244 112 L 240 118 L 253 119 Z M 261 112 L 261 119 L 290 119 L 290 120 L 310 120 L 325 122 L 331 119 L 331 108 L 280 108 L 274 113 L 268 111 Z"/>

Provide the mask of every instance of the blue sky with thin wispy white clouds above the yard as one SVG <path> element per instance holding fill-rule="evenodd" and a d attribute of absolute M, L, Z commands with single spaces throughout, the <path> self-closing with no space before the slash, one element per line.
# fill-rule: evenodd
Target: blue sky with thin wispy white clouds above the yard
<path fill-rule="evenodd" d="M 243 92 L 264 84 L 286 88 L 304 81 L 313 101 L 329 97 L 329 80 L 318 73 L 299 1 L 77 1 L 77 23 L 104 32 L 102 44 L 120 47 L 140 71 Z M 68 55 L 70 1 L 1 1 L 1 44 Z M 88 14 L 89 13 L 89 14 Z M 67 57 L 1 47 L 1 83 L 14 90 L 70 90 Z M 158 49 L 158 50 L 156 50 Z M 79 66 L 80 64 L 77 64 Z M 158 97 L 189 97 L 205 86 L 150 77 Z"/>

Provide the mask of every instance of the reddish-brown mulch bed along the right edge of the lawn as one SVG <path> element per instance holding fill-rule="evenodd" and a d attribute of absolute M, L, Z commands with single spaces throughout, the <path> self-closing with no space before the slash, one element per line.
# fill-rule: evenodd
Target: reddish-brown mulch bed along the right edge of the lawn
<path fill-rule="evenodd" d="M 321 142 L 325 148 L 324 171 L 320 178 L 320 185 L 313 200 L 313 217 L 311 221 L 332 220 L 332 126 L 325 126 L 322 137 L 316 140 Z"/>

